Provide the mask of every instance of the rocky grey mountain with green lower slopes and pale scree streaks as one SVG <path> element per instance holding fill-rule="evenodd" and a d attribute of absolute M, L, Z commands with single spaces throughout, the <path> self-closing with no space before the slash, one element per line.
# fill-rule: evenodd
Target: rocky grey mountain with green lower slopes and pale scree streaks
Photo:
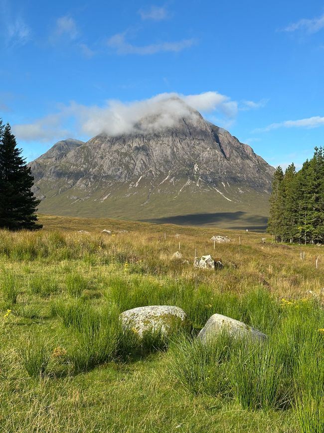
<path fill-rule="evenodd" d="M 155 112 L 125 134 L 54 144 L 29 163 L 39 212 L 263 227 L 274 168 L 186 108 L 171 124 Z"/>

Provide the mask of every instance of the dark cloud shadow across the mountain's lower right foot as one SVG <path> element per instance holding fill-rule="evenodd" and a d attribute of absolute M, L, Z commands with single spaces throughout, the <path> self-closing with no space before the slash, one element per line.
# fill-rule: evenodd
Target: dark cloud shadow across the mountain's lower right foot
<path fill-rule="evenodd" d="M 163 218 L 152 218 L 142 220 L 156 224 L 178 224 L 178 225 L 218 225 L 224 228 L 237 230 L 265 230 L 268 218 L 260 215 L 250 215 L 246 212 L 215 212 L 195 213 L 186 215 L 175 215 Z"/>

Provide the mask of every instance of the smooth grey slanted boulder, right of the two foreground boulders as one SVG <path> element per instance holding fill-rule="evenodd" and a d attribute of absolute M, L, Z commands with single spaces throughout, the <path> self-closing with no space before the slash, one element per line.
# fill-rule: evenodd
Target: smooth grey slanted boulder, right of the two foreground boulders
<path fill-rule="evenodd" d="M 197 338 L 202 341 L 207 341 L 219 335 L 221 332 L 228 332 L 233 337 L 248 337 L 252 341 L 264 341 L 267 336 L 262 332 L 254 329 L 243 322 L 231 319 L 230 317 L 222 316 L 221 314 L 213 314 L 206 322 L 205 326 L 199 332 Z"/>

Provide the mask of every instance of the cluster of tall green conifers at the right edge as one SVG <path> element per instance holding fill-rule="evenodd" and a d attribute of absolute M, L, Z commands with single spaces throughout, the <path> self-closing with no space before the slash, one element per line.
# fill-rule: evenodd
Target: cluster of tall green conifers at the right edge
<path fill-rule="evenodd" d="M 268 232 L 276 242 L 324 243 L 324 149 L 316 147 L 300 171 L 277 167 L 272 181 Z"/>

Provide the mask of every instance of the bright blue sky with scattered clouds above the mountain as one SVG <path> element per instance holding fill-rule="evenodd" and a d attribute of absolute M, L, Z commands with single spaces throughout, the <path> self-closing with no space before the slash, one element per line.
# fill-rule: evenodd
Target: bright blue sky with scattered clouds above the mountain
<path fill-rule="evenodd" d="M 0 54 L 0 117 L 27 161 L 162 93 L 275 166 L 324 145 L 322 1 L 0 0 Z"/>

